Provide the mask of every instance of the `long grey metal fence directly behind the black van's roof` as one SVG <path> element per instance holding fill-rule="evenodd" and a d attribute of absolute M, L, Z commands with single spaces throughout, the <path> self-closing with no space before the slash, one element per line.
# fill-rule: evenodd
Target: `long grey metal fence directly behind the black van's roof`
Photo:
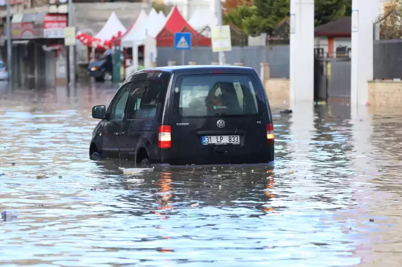
<path fill-rule="evenodd" d="M 167 66 L 168 61 L 181 64 L 181 51 L 173 47 L 158 47 L 157 66 Z M 272 78 L 289 78 L 289 46 L 272 47 L 232 47 L 232 51 L 225 52 L 226 63 L 243 63 L 260 71 L 261 63 L 270 64 Z M 197 65 L 210 65 L 218 62 L 218 53 L 213 53 L 210 47 L 193 47 L 184 52 L 184 62 L 196 62 Z"/>

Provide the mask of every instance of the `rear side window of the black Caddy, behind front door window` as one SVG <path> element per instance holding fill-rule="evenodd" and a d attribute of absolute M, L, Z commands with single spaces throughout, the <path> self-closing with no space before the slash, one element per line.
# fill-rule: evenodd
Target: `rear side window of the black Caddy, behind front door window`
<path fill-rule="evenodd" d="M 134 83 L 129 96 L 127 119 L 154 119 L 161 95 L 160 81 L 140 81 Z"/>

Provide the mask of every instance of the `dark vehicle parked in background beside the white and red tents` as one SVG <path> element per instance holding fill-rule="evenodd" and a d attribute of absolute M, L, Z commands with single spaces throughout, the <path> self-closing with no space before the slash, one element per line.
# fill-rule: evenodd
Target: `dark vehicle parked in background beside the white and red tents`
<path fill-rule="evenodd" d="M 112 50 L 98 60 L 88 65 L 87 73 L 90 77 L 94 77 L 96 81 L 112 81 L 113 79 L 113 57 Z"/>

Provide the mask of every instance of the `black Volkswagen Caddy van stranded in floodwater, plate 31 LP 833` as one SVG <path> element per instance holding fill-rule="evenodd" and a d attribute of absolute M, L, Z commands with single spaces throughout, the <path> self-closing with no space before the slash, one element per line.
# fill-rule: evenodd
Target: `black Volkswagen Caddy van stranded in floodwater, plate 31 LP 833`
<path fill-rule="evenodd" d="M 264 165 L 274 160 L 271 111 L 252 68 L 177 66 L 131 75 L 92 133 L 91 156 L 141 166 Z"/>

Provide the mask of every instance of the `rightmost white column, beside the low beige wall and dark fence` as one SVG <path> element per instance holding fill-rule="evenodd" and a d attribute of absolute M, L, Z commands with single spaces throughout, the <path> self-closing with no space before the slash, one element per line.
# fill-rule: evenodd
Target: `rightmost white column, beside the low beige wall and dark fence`
<path fill-rule="evenodd" d="M 368 100 L 368 80 L 373 79 L 373 23 L 381 12 L 381 0 L 352 1 L 351 105 Z"/>

